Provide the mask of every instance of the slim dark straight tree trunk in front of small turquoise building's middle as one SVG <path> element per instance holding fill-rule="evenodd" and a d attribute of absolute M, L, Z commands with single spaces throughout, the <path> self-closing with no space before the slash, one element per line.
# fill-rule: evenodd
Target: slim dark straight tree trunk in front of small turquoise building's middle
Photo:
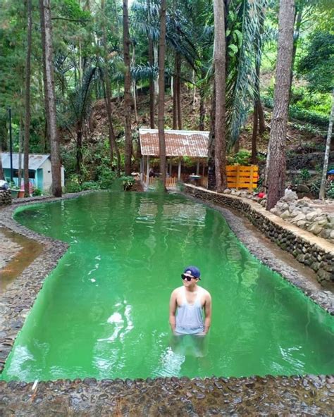
<path fill-rule="evenodd" d="M 27 55 L 25 57 L 25 139 L 23 173 L 25 181 L 25 197 L 29 197 L 29 139 L 30 139 L 30 76 L 31 76 L 31 39 L 32 39 L 32 8 L 31 0 L 27 0 Z"/>

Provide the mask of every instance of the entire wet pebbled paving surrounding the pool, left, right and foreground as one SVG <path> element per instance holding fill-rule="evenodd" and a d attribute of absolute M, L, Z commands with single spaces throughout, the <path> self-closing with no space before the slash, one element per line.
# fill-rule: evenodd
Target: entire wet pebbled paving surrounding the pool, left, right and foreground
<path fill-rule="evenodd" d="M 78 194 L 64 198 L 73 197 Z M 20 199 L 19 203 L 40 200 Z M 68 248 L 63 242 L 38 235 L 16 223 L 12 218 L 16 206 L 0 210 L 0 225 L 34 239 L 44 250 L 0 299 L 0 372 L 44 279 Z M 324 291 L 318 283 L 307 280 L 301 271 L 273 255 L 270 243 L 256 238 L 232 211 L 215 208 L 223 213 L 235 235 L 252 254 L 282 273 L 328 312 L 333 311 L 332 292 Z M 0 381 L 0 416 L 333 416 L 333 382 L 333 375 Z"/>

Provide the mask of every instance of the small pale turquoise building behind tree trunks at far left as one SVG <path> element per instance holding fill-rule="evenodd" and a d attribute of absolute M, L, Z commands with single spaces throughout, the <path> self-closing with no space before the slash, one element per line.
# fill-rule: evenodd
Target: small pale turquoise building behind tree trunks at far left
<path fill-rule="evenodd" d="M 18 154 L 13 153 L 13 182 L 18 185 Z M 22 170 L 23 170 L 23 154 Z M 2 168 L 6 181 L 11 180 L 11 154 L 1 153 Z M 49 192 L 52 185 L 51 158 L 50 154 L 29 154 L 29 181 L 33 187 L 44 192 Z M 23 173 L 22 173 L 23 178 Z M 61 186 L 64 186 L 64 168 L 61 165 Z"/>

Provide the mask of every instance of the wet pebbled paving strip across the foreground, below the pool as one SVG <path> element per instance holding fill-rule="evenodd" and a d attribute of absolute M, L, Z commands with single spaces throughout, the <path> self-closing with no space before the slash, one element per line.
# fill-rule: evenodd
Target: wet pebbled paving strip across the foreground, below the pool
<path fill-rule="evenodd" d="M 333 416 L 333 377 L 0 382 L 2 416 Z"/>

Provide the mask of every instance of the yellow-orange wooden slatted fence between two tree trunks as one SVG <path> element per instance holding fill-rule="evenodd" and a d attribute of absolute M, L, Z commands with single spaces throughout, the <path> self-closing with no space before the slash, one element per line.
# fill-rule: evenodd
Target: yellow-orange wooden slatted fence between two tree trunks
<path fill-rule="evenodd" d="M 259 167 L 256 165 L 228 165 L 226 166 L 228 188 L 248 188 L 252 191 L 257 187 Z"/>

